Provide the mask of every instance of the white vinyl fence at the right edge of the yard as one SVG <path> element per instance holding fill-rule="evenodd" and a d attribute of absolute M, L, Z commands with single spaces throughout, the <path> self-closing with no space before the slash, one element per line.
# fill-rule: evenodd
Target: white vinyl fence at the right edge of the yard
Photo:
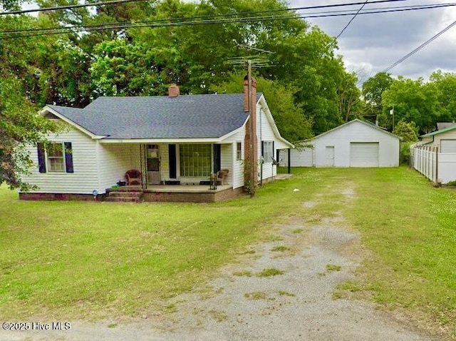
<path fill-rule="evenodd" d="M 411 148 L 410 166 L 434 183 L 456 180 L 456 153 L 439 153 L 438 147 Z"/>

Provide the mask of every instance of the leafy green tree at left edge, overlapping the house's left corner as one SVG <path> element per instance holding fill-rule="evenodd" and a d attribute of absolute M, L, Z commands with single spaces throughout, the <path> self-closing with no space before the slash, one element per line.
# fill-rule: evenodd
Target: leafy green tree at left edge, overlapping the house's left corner
<path fill-rule="evenodd" d="M 5 16 L 0 18 L 0 29 L 30 29 L 39 22 L 31 16 Z M 46 134 L 57 128 L 38 115 L 33 103 L 44 83 L 35 80 L 41 75 L 36 58 L 46 39 L 2 39 L 0 44 L 0 183 L 10 188 L 33 187 L 21 180 L 31 166 L 25 146 L 44 142 Z"/>

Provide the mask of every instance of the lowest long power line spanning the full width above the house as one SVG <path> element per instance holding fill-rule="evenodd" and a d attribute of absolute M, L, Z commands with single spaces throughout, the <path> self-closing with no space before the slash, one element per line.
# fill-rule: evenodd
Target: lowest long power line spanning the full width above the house
<path fill-rule="evenodd" d="M 388 1 L 389 2 L 389 1 Z M 371 4 L 371 3 L 370 3 Z M 456 3 L 451 4 L 435 4 L 435 5 L 420 5 L 420 6 L 401 6 L 401 7 L 388 7 L 383 9 L 369 9 L 361 11 L 358 15 L 361 14 L 379 14 L 379 13 L 389 13 L 389 12 L 400 12 L 400 11 L 413 11 L 420 9 L 435 9 L 446 6 L 456 6 Z M 155 27 L 166 27 L 166 26 L 186 26 L 186 25 L 203 25 L 203 24 L 225 24 L 225 23 L 243 23 L 243 22 L 257 22 L 257 21 L 272 21 L 272 20 L 287 20 L 287 19 L 308 19 L 308 18 L 323 18 L 323 17 L 334 17 L 334 16 L 349 16 L 353 13 L 336 13 L 331 11 L 320 12 L 323 14 L 283 14 L 283 15 L 271 15 L 271 16 L 244 16 L 239 18 L 231 19 L 212 19 L 212 20 L 200 20 L 200 21 L 180 21 L 195 19 L 195 17 L 190 18 L 177 18 L 177 19 L 160 19 L 160 20 L 150 20 L 150 21 L 130 21 L 123 23 L 105 23 L 98 25 L 81 25 L 81 26 L 66 26 L 66 27 L 52 27 L 45 29 L 25 29 L 25 30 L 16 30 L 16 31 L 0 31 L 0 39 L 16 39 L 30 36 L 47 36 L 55 34 L 70 34 L 82 31 L 105 31 L 110 29 L 132 29 L 132 28 L 155 28 Z M 168 21 L 168 22 L 162 22 Z M 26 34 L 31 32 L 30 34 Z M 19 35 L 13 35 L 19 34 Z M 6 36 L 5 36 L 6 35 Z M 10 35 L 10 36 L 8 36 Z"/>

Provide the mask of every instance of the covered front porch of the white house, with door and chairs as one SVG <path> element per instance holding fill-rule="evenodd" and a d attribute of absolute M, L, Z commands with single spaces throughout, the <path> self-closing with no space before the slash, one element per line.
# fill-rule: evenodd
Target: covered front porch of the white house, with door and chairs
<path fill-rule="evenodd" d="M 220 175 L 220 185 L 242 187 L 243 183 L 234 174 L 242 172 L 242 162 L 234 159 L 232 143 L 102 143 L 106 155 L 111 158 L 100 168 L 106 175 L 114 175 L 105 183 L 127 181 L 125 173 L 140 171 L 142 189 L 157 190 L 162 185 L 205 185 L 209 188 L 211 175 Z M 111 165 L 111 166 L 109 166 Z M 222 172 L 222 174 L 217 173 Z M 117 174 L 117 175 L 115 175 Z M 110 183 L 109 183 L 110 182 Z M 131 184 L 131 183 L 127 183 Z M 138 183 L 135 183 L 138 184 Z"/>

